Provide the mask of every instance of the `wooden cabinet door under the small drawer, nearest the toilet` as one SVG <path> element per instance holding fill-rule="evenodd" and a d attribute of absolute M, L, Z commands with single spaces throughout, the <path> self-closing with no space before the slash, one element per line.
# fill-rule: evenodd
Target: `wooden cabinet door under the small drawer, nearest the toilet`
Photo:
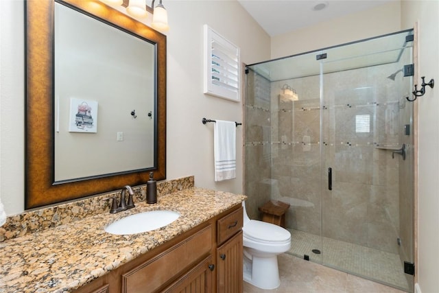
<path fill-rule="evenodd" d="M 242 259 L 242 231 L 240 231 L 217 248 L 217 292 L 242 292 Z"/>

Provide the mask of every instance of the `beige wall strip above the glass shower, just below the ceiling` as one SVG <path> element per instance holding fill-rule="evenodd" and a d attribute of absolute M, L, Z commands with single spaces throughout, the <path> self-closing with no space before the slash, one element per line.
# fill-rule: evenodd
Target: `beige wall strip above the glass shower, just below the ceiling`
<path fill-rule="evenodd" d="M 272 38 L 271 58 L 340 45 L 400 30 L 401 5 L 392 1 L 369 10 L 303 27 Z"/>

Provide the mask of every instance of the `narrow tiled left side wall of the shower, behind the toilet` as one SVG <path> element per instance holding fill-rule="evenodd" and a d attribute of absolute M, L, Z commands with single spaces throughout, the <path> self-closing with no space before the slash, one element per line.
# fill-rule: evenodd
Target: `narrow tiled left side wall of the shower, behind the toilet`
<path fill-rule="evenodd" d="M 252 219 L 260 219 L 258 207 L 271 196 L 270 82 L 249 71 L 246 75 L 244 119 L 246 123 L 246 209 Z"/>

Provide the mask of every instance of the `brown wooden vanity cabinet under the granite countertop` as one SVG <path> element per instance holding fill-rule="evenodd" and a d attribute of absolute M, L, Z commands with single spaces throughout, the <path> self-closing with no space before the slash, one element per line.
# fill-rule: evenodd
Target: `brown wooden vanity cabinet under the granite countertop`
<path fill-rule="evenodd" d="M 242 292 L 242 221 L 237 205 L 75 292 Z"/>

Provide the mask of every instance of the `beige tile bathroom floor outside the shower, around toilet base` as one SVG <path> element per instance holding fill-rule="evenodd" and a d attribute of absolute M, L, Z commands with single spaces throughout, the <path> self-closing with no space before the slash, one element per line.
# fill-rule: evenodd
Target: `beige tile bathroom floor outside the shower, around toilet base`
<path fill-rule="evenodd" d="M 281 277 L 279 288 L 261 290 L 244 282 L 244 293 L 403 293 L 286 253 L 278 256 L 278 266 Z"/>

